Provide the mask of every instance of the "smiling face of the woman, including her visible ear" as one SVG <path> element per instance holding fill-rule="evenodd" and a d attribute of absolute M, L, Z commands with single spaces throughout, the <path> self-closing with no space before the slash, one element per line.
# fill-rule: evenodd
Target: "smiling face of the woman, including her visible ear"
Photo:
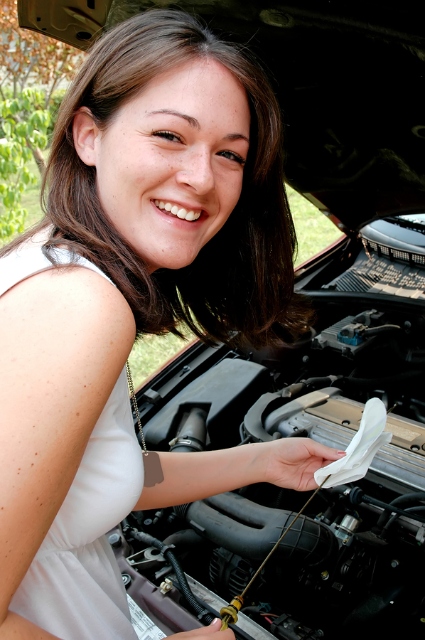
<path fill-rule="evenodd" d="M 242 85 L 200 59 L 157 76 L 104 131 L 81 110 L 74 140 L 96 167 L 103 210 L 154 271 L 190 264 L 224 225 L 241 193 L 249 129 Z"/>

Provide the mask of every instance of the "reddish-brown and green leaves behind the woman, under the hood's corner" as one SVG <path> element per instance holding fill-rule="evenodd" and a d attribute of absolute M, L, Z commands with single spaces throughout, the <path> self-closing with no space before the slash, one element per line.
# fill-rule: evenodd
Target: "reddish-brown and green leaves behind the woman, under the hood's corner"
<path fill-rule="evenodd" d="M 28 163 L 34 158 L 42 171 L 61 99 L 58 88 L 72 77 L 82 55 L 20 29 L 16 0 L 0 0 L 0 241 L 23 229 L 21 195 L 37 182 Z"/>

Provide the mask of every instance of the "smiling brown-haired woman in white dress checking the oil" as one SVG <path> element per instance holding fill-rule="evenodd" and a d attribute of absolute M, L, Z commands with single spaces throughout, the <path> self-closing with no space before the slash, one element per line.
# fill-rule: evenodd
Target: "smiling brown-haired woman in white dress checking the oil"
<path fill-rule="evenodd" d="M 342 455 L 308 439 L 161 453 L 143 489 L 136 335 L 303 327 L 281 166 L 262 72 L 193 18 L 154 10 L 94 46 L 59 114 L 46 218 L 0 260 L 0 638 L 134 639 L 117 522 L 254 482 L 311 489 Z"/>

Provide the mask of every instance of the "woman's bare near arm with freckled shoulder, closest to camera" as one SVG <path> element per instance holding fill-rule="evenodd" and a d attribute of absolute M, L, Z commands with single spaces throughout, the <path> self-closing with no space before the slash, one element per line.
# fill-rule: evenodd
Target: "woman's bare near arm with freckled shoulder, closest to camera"
<path fill-rule="evenodd" d="M 68 492 L 134 331 L 118 290 L 84 268 L 43 272 L 0 298 L 0 638 L 52 637 L 8 606 Z"/>

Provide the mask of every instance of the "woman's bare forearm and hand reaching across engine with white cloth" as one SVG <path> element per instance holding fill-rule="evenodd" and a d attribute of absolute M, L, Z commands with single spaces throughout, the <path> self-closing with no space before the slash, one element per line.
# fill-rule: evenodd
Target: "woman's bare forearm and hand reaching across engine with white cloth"
<path fill-rule="evenodd" d="M 309 438 L 287 438 L 221 451 L 159 455 L 164 481 L 143 489 L 137 509 L 192 502 L 256 482 L 314 489 L 314 472 L 345 454 Z"/>

